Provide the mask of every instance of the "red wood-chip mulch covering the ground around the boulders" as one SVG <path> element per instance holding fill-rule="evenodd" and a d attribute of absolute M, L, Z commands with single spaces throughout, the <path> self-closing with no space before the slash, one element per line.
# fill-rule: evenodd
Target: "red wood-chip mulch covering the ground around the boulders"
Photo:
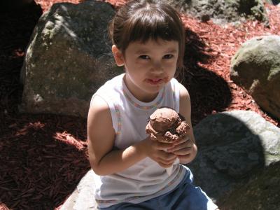
<path fill-rule="evenodd" d="M 42 10 L 56 2 L 80 1 L 37 0 L 38 5 L 0 13 L 0 210 L 59 209 L 90 169 L 85 119 L 18 112 L 20 68 Z M 125 1 L 108 2 L 118 7 Z M 280 8 L 266 8 L 270 28 L 251 21 L 222 28 L 183 17 L 188 35 L 183 84 L 192 99 L 194 125 L 211 113 L 242 109 L 280 127 L 229 75 L 230 59 L 241 43 L 253 36 L 280 35 Z"/>

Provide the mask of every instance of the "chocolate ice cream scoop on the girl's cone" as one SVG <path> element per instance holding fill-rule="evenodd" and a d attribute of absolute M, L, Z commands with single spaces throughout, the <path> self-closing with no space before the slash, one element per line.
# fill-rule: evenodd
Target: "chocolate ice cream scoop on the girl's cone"
<path fill-rule="evenodd" d="M 190 129 L 183 116 L 169 107 L 161 107 L 151 114 L 146 133 L 151 139 L 171 143 L 186 136 Z"/>

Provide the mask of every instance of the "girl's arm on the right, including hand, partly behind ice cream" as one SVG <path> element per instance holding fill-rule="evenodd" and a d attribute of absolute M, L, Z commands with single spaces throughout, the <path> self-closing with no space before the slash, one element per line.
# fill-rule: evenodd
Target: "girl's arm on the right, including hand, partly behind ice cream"
<path fill-rule="evenodd" d="M 187 164 L 195 159 L 197 146 L 195 145 L 195 136 L 191 122 L 190 95 L 183 85 L 180 87 L 180 114 L 186 118 L 188 125 L 190 125 L 190 130 L 186 138 L 176 141 L 174 148 L 168 151 L 177 155 L 181 163 Z"/>

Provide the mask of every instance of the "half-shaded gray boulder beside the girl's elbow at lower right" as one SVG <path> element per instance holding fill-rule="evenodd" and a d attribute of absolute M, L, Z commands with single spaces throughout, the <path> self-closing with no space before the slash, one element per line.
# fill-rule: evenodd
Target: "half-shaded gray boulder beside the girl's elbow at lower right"
<path fill-rule="evenodd" d="M 253 111 L 208 116 L 194 132 L 199 152 L 189 167 L 195 183 L 217 202 L 280 161 L 280 128 Z"/>

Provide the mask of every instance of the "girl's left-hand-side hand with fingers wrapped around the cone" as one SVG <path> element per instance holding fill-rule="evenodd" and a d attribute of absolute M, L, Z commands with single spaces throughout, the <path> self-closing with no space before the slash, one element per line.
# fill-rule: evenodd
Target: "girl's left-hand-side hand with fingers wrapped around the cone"
<path fill-rule="evenodd" d="M 158 162 L 161 167 L 171 167 L 177 158 L 177 155 L 174 153 L 164 151 L 172 148 L 172 144 L 153 141 L 150 137 L 147 137 L 144 139 L 144 145 L 146 155 L 152 160 L 155 160 L 155 162 Z"/>

